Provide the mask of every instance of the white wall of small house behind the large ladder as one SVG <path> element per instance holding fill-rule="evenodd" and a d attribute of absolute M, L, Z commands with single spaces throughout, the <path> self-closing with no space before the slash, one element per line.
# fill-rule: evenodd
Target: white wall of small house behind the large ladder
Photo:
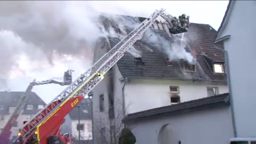
<path fill-rule="evenodd" d="M 84 124 L 84 130 L 80 131 L 80 140 L 92 140 L 92 128 L 88 128 L 88 123 L 92 124 L 92 120 L 80 120 L 80 124 Z M 78 139 L 78 131 L 76 130 L 76 125 L 78 124 L 78 120 L 71 121 L 71 130 L 72 137 L 76 137 Z"/>

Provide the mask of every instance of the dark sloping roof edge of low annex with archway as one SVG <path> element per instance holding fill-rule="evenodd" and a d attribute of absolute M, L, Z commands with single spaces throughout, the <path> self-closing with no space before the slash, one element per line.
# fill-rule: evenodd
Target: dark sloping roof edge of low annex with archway
<path fill-rule="evenodd" d="M 153 116 L 163 116 L 164 114 L 181 114 L 181 112 L 190 112 L 193 110 L 213 108 L 218 106 L 229 106 L 229 104 L 229 93 L 223 93 L 202 99 L 186 101 L 174 105 L 128 114 L 124 117 L 123 121 L 127 122 L 134 119 L 147 119 Z"/>

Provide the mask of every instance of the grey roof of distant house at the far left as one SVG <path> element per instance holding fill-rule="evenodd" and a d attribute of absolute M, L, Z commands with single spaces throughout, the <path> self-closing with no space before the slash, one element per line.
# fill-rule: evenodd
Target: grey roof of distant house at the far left
<path fill-rule="evenodd" d="M 9 107 L 16 107 L 24 93 L 25 92 L 0 92 L 0 105 L 3 106 L 3 108 L 0 109 L 0 114 L 9 115 Z M 37 105 L 45 105 L 45 103 L 35 92 L 30 92 L 29 95 L 30 96 L 26 104 L 33 105 L 34 108 L 27 109 L 25 106 L 22 114 L 33 115 L 40 110 L 37 108 Z"/>

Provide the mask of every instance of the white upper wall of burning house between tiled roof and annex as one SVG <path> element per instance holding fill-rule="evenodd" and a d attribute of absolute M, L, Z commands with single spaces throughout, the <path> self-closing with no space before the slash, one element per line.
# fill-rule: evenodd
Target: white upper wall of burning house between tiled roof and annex
<path fill-rule="evenodd" d="M 221 83 L 134 79 L 125 85 L 126 114 L 171 105 L 169 86 L 179 86 L 180 102 L 207 97 L 207 87 L 218 87 L 219 94 L 228 92 Z"/>

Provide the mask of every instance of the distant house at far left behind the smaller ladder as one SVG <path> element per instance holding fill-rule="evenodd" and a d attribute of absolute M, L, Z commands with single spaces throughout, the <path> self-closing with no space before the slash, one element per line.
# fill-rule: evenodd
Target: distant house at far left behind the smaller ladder
<path fill-rule="evenodd" d="M 18 102 L 23 96 L 24 92 L 0 92 L 0 128 L 4 128 L 5 124 L 9 120 L 14 109 L 18 105 Z M 13 124 L 11 129 L 10 140 L 14 140 L 18 137 L 19 128 L 23 125 L 23 121 L 32 118 L 40 109 L 46 105 L 44 101 L 35 93 L 30 92 L 29 99 L 20 116 Z"/>

